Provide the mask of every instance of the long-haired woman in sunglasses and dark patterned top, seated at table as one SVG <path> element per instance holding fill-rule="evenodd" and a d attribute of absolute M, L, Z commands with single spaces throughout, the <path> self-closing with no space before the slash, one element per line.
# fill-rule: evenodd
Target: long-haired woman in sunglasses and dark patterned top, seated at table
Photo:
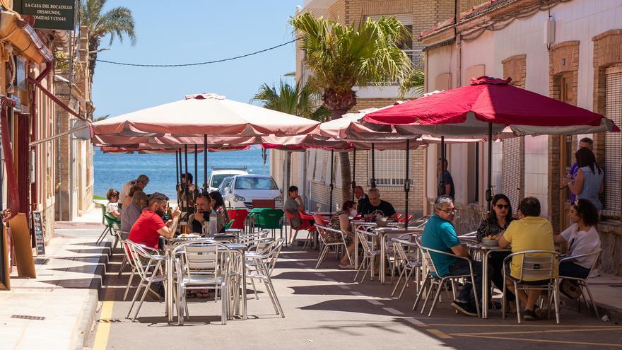
<path fill-rule="evenodd" d="M 512 220 L 512 204 L 505 194 L 495 194 L 493 197 L 493 210 L 488 213 L 488 217 L 481 221 L 477 229 L 476 238 L 479 243 L 483 238 L 497 239 L 505 232 Z M 503 290 L 503 259 L 510 255 L 510 252 L 491 252 L 490 265 L 493 268 L 491 280 L 497 288 Z M 507 291 L 507 300 L 510 302 L 510 313 L 516 312 L 515 296 Z"/>

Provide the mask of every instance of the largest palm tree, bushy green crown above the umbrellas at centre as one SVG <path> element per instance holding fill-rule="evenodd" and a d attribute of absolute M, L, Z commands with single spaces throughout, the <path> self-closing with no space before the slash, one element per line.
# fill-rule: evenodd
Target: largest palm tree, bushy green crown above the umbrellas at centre
<path fill-rule="evenodd" d="M 382 17 L 355 25 L 342 25 L 303 13 L 291 19 L 305 51 L 305 65 L 312 71 L 309 83 L 322 92 L 331 119 L 341 118 L 356 105 L 354 86 L 404 83 L 412 62 L 400 49 L 408 31 L 395 19 Z M 403 86 L 404 89 L 404 86 Z M 348 154 L 340 153 L 341 190 L 351 198 Z"/>

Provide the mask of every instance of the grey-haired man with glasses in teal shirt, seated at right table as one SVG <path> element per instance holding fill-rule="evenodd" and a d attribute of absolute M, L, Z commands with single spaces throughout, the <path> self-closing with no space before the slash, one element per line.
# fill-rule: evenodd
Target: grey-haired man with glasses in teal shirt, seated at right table
<path fill-rule="evenodd" d="M 371 199 L 370 194 L 370 199 Z M 467 247 L 460 243 L 452 221 L 456 214 L 454 208 L 454 199 L 452 197 L 440 196 L 434 202 L 434 215 L 423 228 L 421 236 L 421 245 L 433 250 L 448 252 L 459 257 L 471 257 Z M 459 276 L 470 274 L 469 262 L 457 257 L 430 252 L 430 257 L 434 262 L 438 274 L 440 276 Z M 475 287 L 477 296 L 481 300 L 481 284 L 482 284 L 482 265 L 481 262 L 472 261 L 473 274 L 475 276 Z M 475 304 L 473 286 L 465 284 L 458 298 L 452 303 L 452 306 L 460 313 L 469 316 L 477 316 L 477 308 Z"/>

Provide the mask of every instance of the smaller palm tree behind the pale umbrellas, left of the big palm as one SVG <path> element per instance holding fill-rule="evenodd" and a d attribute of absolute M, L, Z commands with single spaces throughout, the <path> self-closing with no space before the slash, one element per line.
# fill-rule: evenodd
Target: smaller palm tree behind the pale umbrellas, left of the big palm
<path fill-rule="evenodd" d="M 299 117 L 317 120 L 318 122 L 325 122 L 330 116 L 327 107 L 319 105 L 317 93 L 314 93 L 308 85 L 300 86 L 300 84 L 296 84 L 291 86 L 285 81 L 281 81 L 277 89 L 275 86 L 270 87 L 264 83 L 259 87 L 259 92 L 253 96 L 252 101 L 261 102 L 262 106 L 269 110 L 278 110 L 278 112 L 298 115 Z M 283 188 L 287 188 L 290 185 L 290 151 L 286 151 L 285 163 L 286 170 L 283 178 L 286 179 L 286 183 Z"/>

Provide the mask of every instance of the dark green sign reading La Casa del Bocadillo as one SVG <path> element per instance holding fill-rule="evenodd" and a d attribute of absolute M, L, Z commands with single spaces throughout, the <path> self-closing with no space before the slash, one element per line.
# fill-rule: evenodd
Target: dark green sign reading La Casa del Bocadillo
<path fill-rule="evenodd" d="M 75 0 L 14 0 L 13 8 L 21 15 L 35 17 L 38 29 L 74 29 Z"/>

